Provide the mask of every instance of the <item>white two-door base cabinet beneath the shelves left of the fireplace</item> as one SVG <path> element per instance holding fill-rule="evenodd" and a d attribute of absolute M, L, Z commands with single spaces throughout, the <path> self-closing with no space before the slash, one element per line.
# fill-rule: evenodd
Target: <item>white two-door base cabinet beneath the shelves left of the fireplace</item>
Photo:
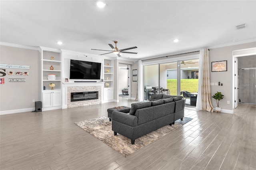
<path fill-rule="evenodd" d="M 60 107 L 61 106 L 61 91 L 44 91 L 43 92 L 43 109 L 46 107 Z M 59 109 L 59 108 L 56 108 Z M 50 109 L 44 109 L 50 110 Z"/>

